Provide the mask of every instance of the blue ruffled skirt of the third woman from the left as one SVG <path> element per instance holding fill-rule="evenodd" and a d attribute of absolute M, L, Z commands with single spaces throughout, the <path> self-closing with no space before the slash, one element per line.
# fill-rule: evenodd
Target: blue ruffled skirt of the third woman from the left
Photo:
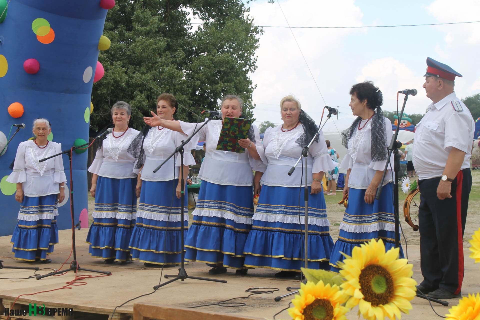
<path fill-rule="evenodd" d="M 188 196 L 185 192 L 182 219 L 181 200 L 175 194 L 178 181 L 179 179 L 142 182 L 136 224 L 129 245 L 132 260 L 180 264 L 181 221 L 184 239 L 188 231 Z"/>

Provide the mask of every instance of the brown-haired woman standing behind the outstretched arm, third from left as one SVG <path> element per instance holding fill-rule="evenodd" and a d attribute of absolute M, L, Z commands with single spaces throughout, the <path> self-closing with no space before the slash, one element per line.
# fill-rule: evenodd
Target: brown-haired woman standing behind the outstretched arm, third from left
<path fill-rule="evenodd" d="M 173 121 L 178 110 L 177 99 L 170 94 L 157 98 L 158 117 Z M 180 146 L 188 136 L 165 127 L 145 126 L 142 152 L 135 166 L 138 175 L 137 190 L 140 202 L 136 224 L 130 240 L 132 260 L 140 260 L 147 267 L 168 267 L 181 262 L 181 223 L 186 237 L 188 230 L 188 196 L 185 188 L 184 215 L 181 217 L 180 154 L 171 157 L 156 173 L 153 171 Z M 183 177 L 186 180 L 190 165 L 195 165 L 191 149 L 184 147 Z M 185 181 L 184 180 L 184 181 Z"/>

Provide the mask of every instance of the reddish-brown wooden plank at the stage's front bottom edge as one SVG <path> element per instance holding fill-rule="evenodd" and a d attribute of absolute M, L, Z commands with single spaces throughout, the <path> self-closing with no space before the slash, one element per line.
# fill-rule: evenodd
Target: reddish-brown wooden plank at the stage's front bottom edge
<path fill-rule="evenodd" d="M 133 320 L 260 320 L 225 313 L 200 311 L 190 308 L 171 308 L 154 304 L 134 303 Z"/>

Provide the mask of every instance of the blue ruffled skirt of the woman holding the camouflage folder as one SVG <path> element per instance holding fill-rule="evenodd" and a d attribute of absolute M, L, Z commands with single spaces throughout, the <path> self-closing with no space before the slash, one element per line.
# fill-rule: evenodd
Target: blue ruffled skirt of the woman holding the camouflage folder
<path fill-rule="evenodd" d="M 202 181 L 185 241 L 185 260 L 241 269 L 252 215 L 252 186 L 226 186 Z"/>

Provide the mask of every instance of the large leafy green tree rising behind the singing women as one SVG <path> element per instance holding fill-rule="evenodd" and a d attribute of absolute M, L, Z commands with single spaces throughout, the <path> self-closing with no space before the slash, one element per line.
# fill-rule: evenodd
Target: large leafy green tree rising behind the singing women
<path fill-rule="evenodd" d="M 187 108 L 200 115 L 227 94 L 243 98 L 243 115 L 252 118 L 248 74 L 256 69 L 262 30 L 248 12 L 241 0 L 117 0 L 104 28 L 111 47 L 98 59 L 105 76 L 93 86 L 92 130 L 111 123 L 118 100 L 132 105 L 130 125 L 140 130 L 164 92 L 185 106 L 176 119 L 196 122 Z M 203 21 L 194 31 L 192 13 Z"/>

